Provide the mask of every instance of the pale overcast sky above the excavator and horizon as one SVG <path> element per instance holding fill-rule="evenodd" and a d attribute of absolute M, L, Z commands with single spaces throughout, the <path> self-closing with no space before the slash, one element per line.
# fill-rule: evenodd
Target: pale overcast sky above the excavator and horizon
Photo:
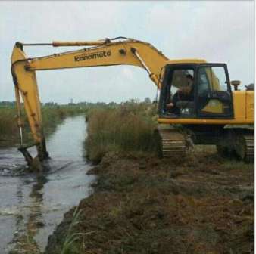
<path fill-rule="evenodd" d="M 150 42 L 170 59 L 228 64 L 230 79 L 254 82 L 254 2 L 0 2 L 0 101 L 14 100 L 15 42 L 96 40 L 126 36 Z M 70 50 L 70 48 L 68 48 Z M 25 48 L 29 57 L 66 48 Z M 138 67 L 92 67 L 37 72 L 42 102 L 154 98 Z"/>

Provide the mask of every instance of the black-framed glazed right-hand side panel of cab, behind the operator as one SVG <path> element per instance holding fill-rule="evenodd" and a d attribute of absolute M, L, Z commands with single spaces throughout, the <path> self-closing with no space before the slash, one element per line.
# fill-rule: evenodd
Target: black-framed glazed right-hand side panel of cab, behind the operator
<path fill-rule="evenodd" d="M 226 64 L 198 64 L 195 91 L 197 116 L 233 118 L 232 92 Z"/>

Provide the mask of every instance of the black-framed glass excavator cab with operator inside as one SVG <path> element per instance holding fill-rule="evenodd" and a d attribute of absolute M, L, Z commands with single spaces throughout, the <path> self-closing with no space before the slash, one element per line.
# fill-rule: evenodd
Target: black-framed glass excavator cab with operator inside
<path fill-rule="evenodd" d="M 172 107 L 168 107 L 173 104 Z M 159 101 L 161 118 L 233 119 L 226 64 L 167 64 Z"/>

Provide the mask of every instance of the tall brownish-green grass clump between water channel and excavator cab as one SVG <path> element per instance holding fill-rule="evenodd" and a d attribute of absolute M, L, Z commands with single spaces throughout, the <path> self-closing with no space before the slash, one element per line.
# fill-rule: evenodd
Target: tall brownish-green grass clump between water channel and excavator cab
<path fill-rule="evenodd" d="M 88 118 L 89 160 L 99 162 L 109 151 L 154 150 L 156 118 L 151 104 L 130 101 L 115 108 L 96 108 Z"/>

